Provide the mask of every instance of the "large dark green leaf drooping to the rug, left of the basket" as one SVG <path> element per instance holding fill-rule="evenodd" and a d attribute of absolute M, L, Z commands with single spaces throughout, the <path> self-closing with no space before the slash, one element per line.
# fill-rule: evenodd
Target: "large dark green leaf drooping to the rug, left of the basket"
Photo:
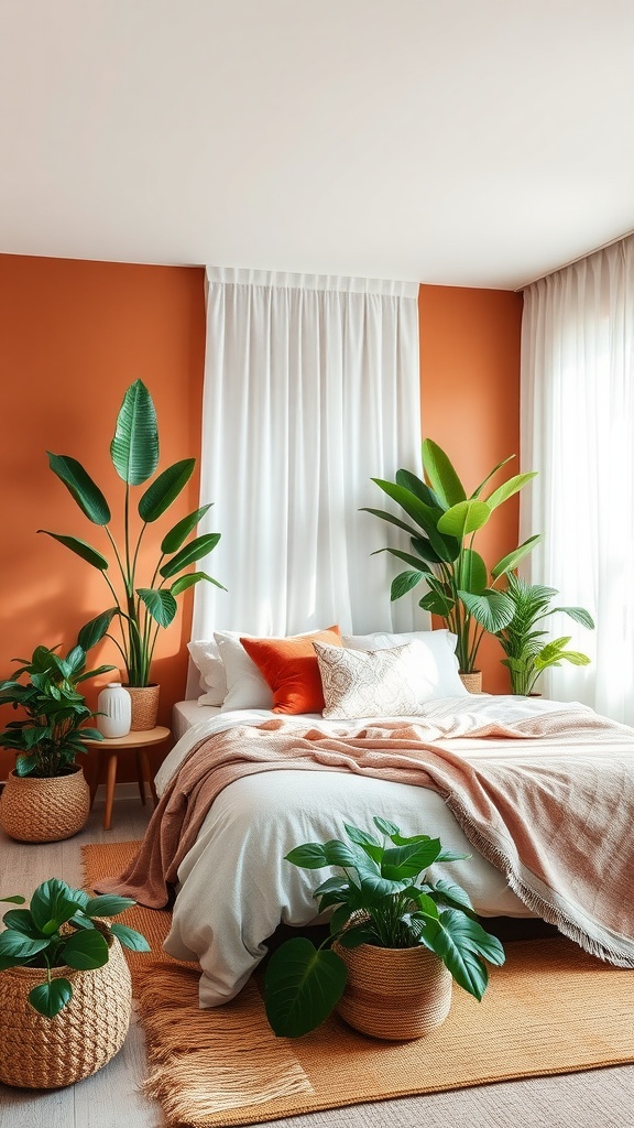
<path fill-rule="evenodd" d="M 347 972 L 329 949 L 305 937 L 289 940 L 271 957 L 264 976 L 266 1016 L 278 1037 L 299 1038 L 315 1030 L 340 1001 Z"/>

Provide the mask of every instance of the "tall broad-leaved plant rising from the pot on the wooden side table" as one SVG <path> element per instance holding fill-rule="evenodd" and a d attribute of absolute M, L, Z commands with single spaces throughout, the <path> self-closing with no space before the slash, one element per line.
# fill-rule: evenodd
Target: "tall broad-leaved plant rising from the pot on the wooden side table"
<path fill-rule="evenodd" d="M 123 545 L 116 543 L 111 529 L 108 502 L 83 466 L 69 455 L 53 455 L 49 451 L 49 464 L 53 473 L 64 484 L 85 517 L 104 529 L 112 549 L 112 559 L 79 537 L 51 532 L 49 529 L 37 531 L 59 540 L 102 573 L 111 591 L 113 606 L 87 625 L 87 634 L 93 644 L 104 635 L 113 638 L 122 654 L 127 684 L 147 686 L 158 632 L 174 620 L 176 597 L 201 581 L 222 588 L 206 572 L 185 571 L 215 548 L 220 534 L 208 532 L 187 541 L 190 534 L 211 509 L 211 503 L 196 509 L 165 534 L 149 585 L 140 584 L 137 570 L 147 530 L 176 501 L 196 464 L 195 458 L 185 458 L 162 470 L 141 494 L 137 505 L 138 519 L 133 515 L 132 487 L 148 482 L 159 460 L 155 405 L 141 380 L 135 380 L 123 398 L 111 443 L 111 458 L 116 473 L 125 483 Z M 107 634 L 113 619 L 118 622 L 121 642 Z"/>

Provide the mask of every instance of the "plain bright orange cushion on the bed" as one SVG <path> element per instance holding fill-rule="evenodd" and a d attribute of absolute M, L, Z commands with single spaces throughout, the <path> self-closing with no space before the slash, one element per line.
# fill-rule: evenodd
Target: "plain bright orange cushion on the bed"
<path fill-rule="evenodd" d="M 240 638 L 273 690 L 274 713 L 320 713 L 324 693 L 312 642 L 341 646 L 337 626 L 290 638 Z"/>

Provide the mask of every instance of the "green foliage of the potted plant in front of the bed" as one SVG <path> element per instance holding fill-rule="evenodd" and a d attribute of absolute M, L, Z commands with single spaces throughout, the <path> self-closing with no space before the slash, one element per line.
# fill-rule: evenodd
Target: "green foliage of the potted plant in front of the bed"
<path fill-rule="evenodd" d="M 324 943 L 316 949 L 306 937 L 289 940 L 271 957 L 265 1006 L 276 1034 L 297 1038 L 314 1030 L 341 998 L 347 971 L 333 951 L 334 943 L 422 945 L 435 952 L 456 982 L 477 999 L 488 982 L 484 961 L 504 962 L 500 941 L 475 919 L 465 890 L 444 878 L 432 882 L 425 874 L 434 862 L 457 862 L 468 855 L 443 849 L 440 839 L 429 835 L 407 838 L 386 819 L 375 817 L 373 822 L 382 841 L 344 825 L 350 843 L 305 843 L 287 854 L 293 865 L 335 866 L 343 873 L 328 878 L 312 895 L 319 913 L 334 909 Z"/>

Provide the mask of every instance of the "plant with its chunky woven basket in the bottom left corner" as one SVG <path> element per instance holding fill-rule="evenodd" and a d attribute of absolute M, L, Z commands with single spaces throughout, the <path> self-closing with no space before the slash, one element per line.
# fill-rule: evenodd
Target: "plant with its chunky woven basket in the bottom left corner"
<path fill-rule="evenodd" d="M 24 897 L 2 897 L 24 905 Z M 121 1049 L 132 989 L 121 945 L 148 952 L 141 933 L 105 917 L 134 905 L 89 897 L 51 878 L 0 932 L 0 1081 L 56 1089 L 95 1073 Z"/>

